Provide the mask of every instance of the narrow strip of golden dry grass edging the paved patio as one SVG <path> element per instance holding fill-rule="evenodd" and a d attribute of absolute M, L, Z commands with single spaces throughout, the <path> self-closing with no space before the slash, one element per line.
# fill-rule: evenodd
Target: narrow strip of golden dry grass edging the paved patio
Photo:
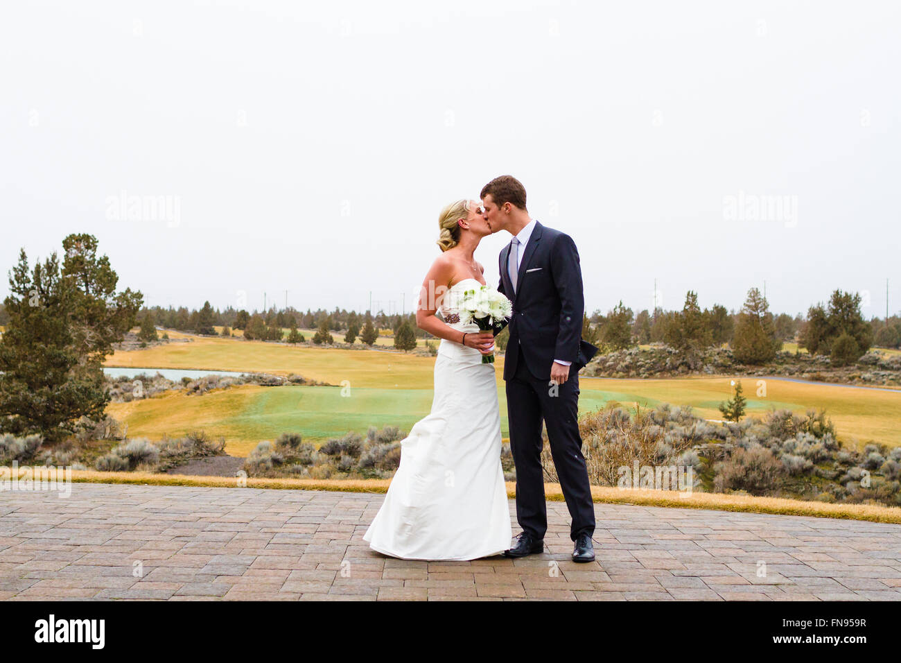
<path fill-rule="evenodd" d="M 179 474 L 150 474 L 141 472 L 117 473 L 93 470 L 72 473 L 74 483 L 132 483 L 143 485 L 186 485 L 236 488 L 234 477 L 188 476 Z M 342 491 L 347 493 L 386 493 L 387 479 L 367 480 L 316 480 L 316 479 L 258 479 L 248 478 L 249 488 L 277 488 L 288 490 Z M 507 496 L 515 497 L 515 484 L 507 483 Z M 563 501 L 559 483 L 544 484 L 545 497 L 554 502 Z M 869 504 L 829 504 L 825 502 L 801 502 L 775 497 L 724 495 L 720 493 L 684 494 L 669 491 L 622 489 L 592 486 L 595 502 L 610 504 L 634 504 L 640 506 L 675 507 L 678 509 L 710 509 L 713 511 L 742 511 L 772 513 L 778 515 L 838 518 L 842 520 L 870 520 L 872 522 L 901 523 L 901 509 L 872 506 Z M 682 495 L 682 496 L 680 496 Z"/>

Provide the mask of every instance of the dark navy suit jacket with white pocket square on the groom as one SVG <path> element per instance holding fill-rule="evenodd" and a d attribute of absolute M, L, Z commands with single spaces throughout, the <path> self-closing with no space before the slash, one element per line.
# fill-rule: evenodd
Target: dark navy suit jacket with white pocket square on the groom
<path fill-rule="evenodd" d="M 497 290 L 513 301 L 513 316 L 504 363 L 504 379 L 516 373 L 522 352 L 526 367 L 536 378 L 551 379 L 554 359 L 572 362 L 578 372 L 597 348 L 582 341 L 585 299 L 576 243 L 569 235 L 535 222 L 525 244 L 517 273 L 517 288 L 507 272 L 507 244 L 498 258 L 501 282 Z"/>

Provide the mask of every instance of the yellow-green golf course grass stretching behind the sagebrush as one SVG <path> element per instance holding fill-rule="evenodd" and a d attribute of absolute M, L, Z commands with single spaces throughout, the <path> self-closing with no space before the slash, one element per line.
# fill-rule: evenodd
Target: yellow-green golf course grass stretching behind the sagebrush
<path fill-rule="evenodd" d="M 175 337 L 170 333 L 170 336 Z M 203 396 L 168 394 L 147 401 L 114 403 L 108 408 L 126 421 L 130 436 L 152 439 L 204 428 L 224 436 L 232 454 L 244 455 L 259 440 L 298 431 L 309 440 L 365 433 L 369 426 L 393 425 L 409 430 L 432 406 L 434 358 L 376 350 L 292 347 L 260 341 L 193 337 L 191 343 L 117 352 L 113 366 L 219 369 L 261 373 L 298 373 L 309 379 L 350 387 L 260 387 L 245 385 Z M 496 375 L 502 435 L 507 437 L 502 379 Z M 742 378 L 748 413 L 774 408 L 804 412 L 825 408 L 839 437 L 862 446 L 869 440 L 901 444 L 901 391 L 878 391 L 768 379 L 765 392 L 754 378 Z M 717 404 L 731 395 L 729 377 L 660 380 L 580 379 L 579 410 L 586 412 L 619 401 L 625 407 L 653 407 L 660 402 L 690 405 L 705 419 L 721 419 Z"/>

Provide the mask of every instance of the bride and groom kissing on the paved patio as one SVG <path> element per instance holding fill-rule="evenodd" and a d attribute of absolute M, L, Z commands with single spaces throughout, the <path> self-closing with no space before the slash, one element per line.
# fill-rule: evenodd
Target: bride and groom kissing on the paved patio
<path fill-rule="evenodd" d="M 576 244 L 530 216 L 523 185 L 509 175 L 488 182 L 480 204 L 464 199 L 445 207 L 438 224 L 441 255 L 425 275 L 416 311 L 416 325 L 441 338 L 432 411 L 401 442 L 400 465 L 363 539 L 403 559 L 542 553 L 548 526 L 543 422 L 572 519 L 572 559 L 591 562 L 595 509 L 578 432 L 578 370 L 597 348 L 581 340 L 585 303 Z M 474 254 L 482 237 L 502 230 L 512 239 L 500 253 L 501 279 L 491 292 Z M 435 284 L 438 298 L 429 296 Z M 465 308 L 479 290 L 512 302 L 512 314 L 487 331 Z M 493 357 L 494 334 L 507 325 L 504 380 L 522 528 L 512 546 L 495 366 L 483 361 Z"/>

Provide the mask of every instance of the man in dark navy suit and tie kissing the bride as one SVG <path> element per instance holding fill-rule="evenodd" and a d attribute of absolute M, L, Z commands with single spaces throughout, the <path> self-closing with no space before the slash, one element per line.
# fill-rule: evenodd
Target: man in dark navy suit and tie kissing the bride
<path fill-rule="evenodd" d="M 516 519 L 523 533 L 505 555 L 525 557 L 544 549 L 543 420 L 572 518 L 572 559 L 591 562 L 595 508 L 578 433 L 578 370 L 597 348 L 581 340 L 585 302 L 576 244 L 529 216 L 525 189 L 514 177 L 491 180 L 481 198 L 492 232 L 513 235 L 500 254 L 497 290 L 513 302 L 504 380 L 516 465 Z"/>

